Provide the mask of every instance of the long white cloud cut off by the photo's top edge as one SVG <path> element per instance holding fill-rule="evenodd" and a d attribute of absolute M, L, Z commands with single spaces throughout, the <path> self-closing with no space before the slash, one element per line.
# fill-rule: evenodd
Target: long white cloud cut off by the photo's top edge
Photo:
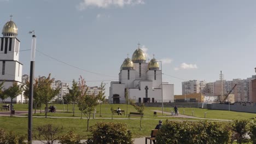
<path fill-rule="evenodd" d="M 135 4 L 144 4 L 144 0 L 83 0 L 83 2 L 78 5 L 78 9 L 83 10 L 88 7 L 109 8 L 113 6 L 122 8 L 124 5 Z"/>

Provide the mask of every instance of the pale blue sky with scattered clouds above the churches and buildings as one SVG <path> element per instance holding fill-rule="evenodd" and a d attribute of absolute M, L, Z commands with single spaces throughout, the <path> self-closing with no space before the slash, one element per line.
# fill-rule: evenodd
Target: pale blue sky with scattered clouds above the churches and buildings
<path fill-rule="evenodd" d="M 256 1 L 0 0 L 0 28 L 18 26 L 22 74 L 88 86 L 118 81 L 120 65 L 137 49 L 162 62 L 163 82 L 182 94 L 188 80 L 247 79 L 256 67 Z M 25 51 L 22 51 L 25 50 Z"/>

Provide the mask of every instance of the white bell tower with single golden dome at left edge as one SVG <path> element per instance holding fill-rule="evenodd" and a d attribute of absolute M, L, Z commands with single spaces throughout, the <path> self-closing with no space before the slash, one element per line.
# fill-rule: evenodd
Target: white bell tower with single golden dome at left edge
<path fill-rule="evenodd" d="M 3 26 L 3 37 L 0 37 L 0 82 L 4 81 L 3 89 L 13 86 L 16 82 L 22 84 L 22 63 L 19 62 L 20 40 L 17 39 L 18 28 L 13 21 Z M 23 103 L 24 96 L 18 95 L 13 103 Z M 5 99 L 6 102 L 10 98 Z"/>

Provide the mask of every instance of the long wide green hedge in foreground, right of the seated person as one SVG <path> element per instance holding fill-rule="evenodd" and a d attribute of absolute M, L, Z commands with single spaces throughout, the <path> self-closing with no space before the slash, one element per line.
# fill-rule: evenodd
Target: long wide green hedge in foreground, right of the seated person
<path fill-rule="evenodd" d="M 229 143 L 231 131 L 218 122 L 166 121 L 156 136 L 158 143 Z"/>

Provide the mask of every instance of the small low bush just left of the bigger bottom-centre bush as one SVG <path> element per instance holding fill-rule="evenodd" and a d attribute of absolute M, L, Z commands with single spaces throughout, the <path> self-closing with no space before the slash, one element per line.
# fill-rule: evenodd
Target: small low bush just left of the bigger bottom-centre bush
<path fill-rule="evenodd" d="M 82 137 L 74 131 L 69 131 L 68 134 L 59 137 L 59 143 L 62 144 L 79 144 Z"/>

